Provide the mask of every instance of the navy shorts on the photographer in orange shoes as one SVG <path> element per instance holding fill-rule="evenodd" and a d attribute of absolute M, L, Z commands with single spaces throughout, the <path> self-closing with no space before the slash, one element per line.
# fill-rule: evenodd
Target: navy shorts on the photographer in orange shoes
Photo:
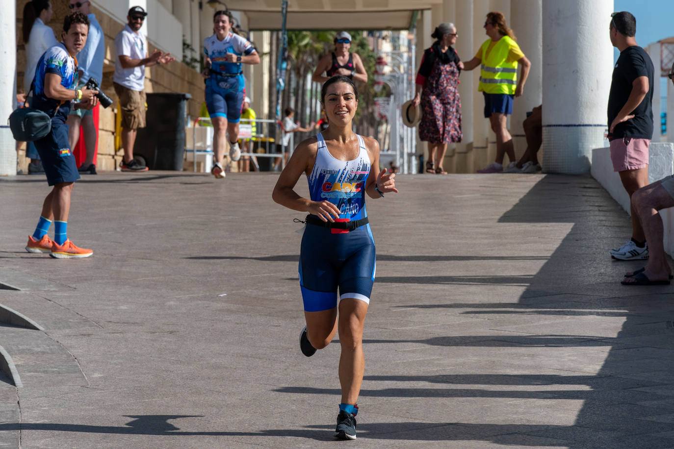
<path fill-rule="evenodd" d="M 42 139 L 35 141 L 47 183 L 50 186 L 61 182 L 75 182 L 80 179 L 75 156 L 68 143 L 68 125 L 61 116 L 51 119 L 51 131 Z"/>

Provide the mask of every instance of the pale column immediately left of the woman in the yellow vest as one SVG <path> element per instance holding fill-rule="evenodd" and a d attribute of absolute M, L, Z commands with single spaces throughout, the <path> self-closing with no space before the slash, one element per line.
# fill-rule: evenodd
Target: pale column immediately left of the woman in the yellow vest
<path fill-rule="evenodd" d="M 472 23 L 474 24 L 472 29 L 473 48 L 470 52 L 470 57 L 465 57 L 466 61 L 470 61 L 483 42 L 489 39 L 487 34 L 485 34 L 485 28 L 483 26 L 487 18 L 487 13 L 489 12 L 489 0 L 473 0 L 472 7 Z M 487 164 L 493 162 L 487 159 L 487 140 L 489 139 L 490 132 L 489 120 L 485 118 L 485 100 L 482 92 L 477 92 L 479 82 L 480 66 L 475 67 L 472 70 L 472 85 L 474 92 L 472 101 L 472 153 L 474 170 L 471 170 L 472 172 L 479 170 L 480 168 L 485 168 Z"/>

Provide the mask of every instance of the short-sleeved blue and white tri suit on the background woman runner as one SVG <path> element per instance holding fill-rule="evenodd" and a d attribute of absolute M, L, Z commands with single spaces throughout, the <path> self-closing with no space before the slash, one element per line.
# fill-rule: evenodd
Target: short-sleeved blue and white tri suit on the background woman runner
<path fill-rule="evenodd" d="M 216 34 L 204 39 L 204 55 L 211 60 L 213 69 L 206 79 L 206 108 L 210 116 L 226 116 L 229 123 L 239 123 L 245 97 L 245 78 L 241 63 L 228 63 L 224 58 L 227 53 L 241 56 L 250 55 L 253 51 L 253 44 L 232 32 L 223 40 L 218 40 Z"/>

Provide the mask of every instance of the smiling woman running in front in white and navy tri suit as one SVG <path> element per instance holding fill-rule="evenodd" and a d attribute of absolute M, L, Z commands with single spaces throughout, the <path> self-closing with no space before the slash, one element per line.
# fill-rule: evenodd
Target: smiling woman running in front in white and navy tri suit
<path fill-rule="evenodd" d="M 272 197 L 280 205 L 309 213 L 299 262 L 307 322 L 300 348 L 309 357 L 326 347 L 339 329 L 342 403 L 334 436 L 355 440 L 365 365 L 363 323 L 375 279 L 375 244 L 365 193 L 378 199 L 398 189 L 394 174 L 386 168 L 379 172 L 379 143 L 351 129 L 358 108 L 353 81 L 339 75 L 326 81 L 321 105 L 330 121 L 328 129 L 297 146 Z M 294 190 L 302 173 L 307 175 L 311 198 Z"/>

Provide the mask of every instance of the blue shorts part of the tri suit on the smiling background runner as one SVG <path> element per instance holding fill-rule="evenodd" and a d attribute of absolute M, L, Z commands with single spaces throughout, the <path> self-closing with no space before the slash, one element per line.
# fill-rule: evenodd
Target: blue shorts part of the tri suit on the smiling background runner
<path fill-rule="evenodd" d="M 212 75 L 206 80 L 206 108 L 211 117 L 226 117 L 228 123 L 239 123 L 245 97 L 243 75 Z"/>

